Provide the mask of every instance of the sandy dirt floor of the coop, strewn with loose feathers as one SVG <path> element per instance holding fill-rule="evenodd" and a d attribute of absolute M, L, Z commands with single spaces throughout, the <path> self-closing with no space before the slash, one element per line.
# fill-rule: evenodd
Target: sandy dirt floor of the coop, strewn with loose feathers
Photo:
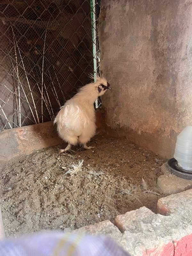
<path fill-rule="evenodd" d="M 75 229 L 146 206 L 156 212 L 164 196 L 156 186 L 165 159 L 102 135 L 94 149 L 74 155 L 43 149 L 0 167 L 0 203 L 6 236 L 44 229 Z M 65 145 L 64 145 L 65 146 Z M 76 150 L 76 148 L 74 148 Z M 65 174 L 84 160 L 76 174 Z M 148 193 L 142 186 L 148 182 Z"/>

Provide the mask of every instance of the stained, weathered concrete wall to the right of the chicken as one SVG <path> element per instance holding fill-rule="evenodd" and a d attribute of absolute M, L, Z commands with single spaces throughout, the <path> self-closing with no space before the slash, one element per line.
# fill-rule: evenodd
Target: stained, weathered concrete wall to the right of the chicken
<path fill-rule="evenodd" d="M 101 2 L 108 130 L 172 157 L 176 136 L 192 124 L 192 1 Z"/>

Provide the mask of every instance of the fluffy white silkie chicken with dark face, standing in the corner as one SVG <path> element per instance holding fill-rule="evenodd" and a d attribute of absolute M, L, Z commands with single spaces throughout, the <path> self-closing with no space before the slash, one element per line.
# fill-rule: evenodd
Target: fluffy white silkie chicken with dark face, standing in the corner
<path fill-rule="evenodd" d="M 87 142 L 95 135 L 95 100 L 103 95 L 110 84 L 105 78 L 97 76 L 96 82 L 86 84 L 80 88 L 79 92 L 67 100 L 64 106 L 60 108 L 54 124 L 57 124 L 57 131 L 62 140 L 68 142 L 65 149 L 60 152 L 70 151 L 72 145 L 78 142 L 83 148 L 87 147 Z"/>

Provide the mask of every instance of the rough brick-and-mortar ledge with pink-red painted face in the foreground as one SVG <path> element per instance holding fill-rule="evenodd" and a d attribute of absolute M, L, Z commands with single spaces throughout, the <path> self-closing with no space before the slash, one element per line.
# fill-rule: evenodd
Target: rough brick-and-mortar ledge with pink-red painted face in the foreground
<path fill-rule="evenodd" d="M 141 207 L 118 215 L 119 229 L 107 220 L 73 232 L 111 236 L 132 256 L 192 255 L 192 189 L 161 198 L 157 206 L 161 214 Z"/>

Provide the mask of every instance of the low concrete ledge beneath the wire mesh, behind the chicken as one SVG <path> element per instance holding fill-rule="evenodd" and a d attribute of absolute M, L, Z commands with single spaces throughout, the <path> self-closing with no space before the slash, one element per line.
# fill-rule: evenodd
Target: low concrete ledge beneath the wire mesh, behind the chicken
<path fill-rule="evenodd" d="M 96 112 L 97 130 L 102 130 L 102 112 Z M 0 132 L 0 163 L 13 157 L 29 155 L 34 150 L 59 145 L 63 141 L 58 137 L 56 125 L 52 122 L 33 124 Z"/>

